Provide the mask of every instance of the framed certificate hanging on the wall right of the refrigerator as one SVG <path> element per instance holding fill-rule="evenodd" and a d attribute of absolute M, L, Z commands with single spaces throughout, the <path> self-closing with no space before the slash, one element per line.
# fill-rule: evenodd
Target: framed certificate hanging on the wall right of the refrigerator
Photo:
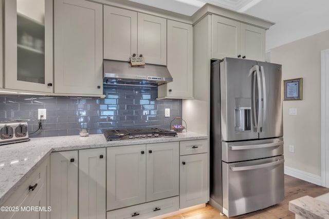
<path fill-rule="evenodd" d="M 283 81 L 284 101 L 301 101 L 303 78 L 289 79 Z"/>

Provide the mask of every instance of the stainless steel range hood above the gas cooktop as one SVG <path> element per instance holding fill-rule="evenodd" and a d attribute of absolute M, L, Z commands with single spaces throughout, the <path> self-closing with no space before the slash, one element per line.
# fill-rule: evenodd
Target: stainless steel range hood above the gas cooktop
<path fill-rule="evenodd" d="M 158 86 L 173 81 L 167 67 L 160 65 L 132 67 L 129 62 L 104 59 L 103 70 L 106 84 Z"/>

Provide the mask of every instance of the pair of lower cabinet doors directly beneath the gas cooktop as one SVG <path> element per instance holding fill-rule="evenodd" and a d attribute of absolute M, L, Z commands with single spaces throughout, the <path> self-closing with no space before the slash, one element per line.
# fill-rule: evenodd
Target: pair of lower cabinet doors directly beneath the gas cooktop
<path fill-rule="evenodd" d="M 107 154 L 108 211 L 179 194 L 178 142 L 108 147 Z"/>

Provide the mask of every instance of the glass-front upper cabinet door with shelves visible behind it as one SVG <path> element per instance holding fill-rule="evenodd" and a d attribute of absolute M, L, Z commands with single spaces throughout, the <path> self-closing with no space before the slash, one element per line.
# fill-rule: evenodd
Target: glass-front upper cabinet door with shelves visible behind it
<path fill-rule="evenodd" d="M 4 87 L 52 93 L 52 0 L 5 0 L 4 6 Z"/>

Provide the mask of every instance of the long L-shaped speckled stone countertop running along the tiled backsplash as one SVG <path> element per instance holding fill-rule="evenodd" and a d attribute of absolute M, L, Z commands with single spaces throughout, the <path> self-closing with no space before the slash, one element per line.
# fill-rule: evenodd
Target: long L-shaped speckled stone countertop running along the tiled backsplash
<path fill-rule="evenodd" d="M 208 139 L 207 135 L 181 132 L 176 137 L 106 142 L 103 134 L 31 138 L 29 142 L 0 146 L 0 206 L 53 151 Z"/>

